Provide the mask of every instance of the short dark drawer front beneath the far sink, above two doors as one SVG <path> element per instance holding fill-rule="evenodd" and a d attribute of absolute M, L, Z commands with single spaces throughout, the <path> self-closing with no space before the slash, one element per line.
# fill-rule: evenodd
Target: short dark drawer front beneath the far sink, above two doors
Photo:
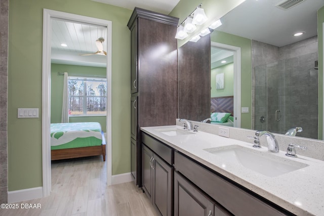
<path fill-rule="evenodd" d="M 144 143 L 147 147 L 149 147 L 153 152 L 155 152 L 159 157 L 164 159 L 170 165 L 173 164 L 172 148 L 145 133 L 142 133 L 142 143 Z"/>

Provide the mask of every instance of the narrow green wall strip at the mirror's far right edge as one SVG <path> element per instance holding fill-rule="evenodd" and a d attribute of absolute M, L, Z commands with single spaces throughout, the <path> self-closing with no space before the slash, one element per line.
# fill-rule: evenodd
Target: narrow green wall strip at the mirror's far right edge
<path fill-rule="evenodd" d="M 323 139 L 323 23 L 324 7 L 317 11 L 318 38 L 318 139 Z"/>

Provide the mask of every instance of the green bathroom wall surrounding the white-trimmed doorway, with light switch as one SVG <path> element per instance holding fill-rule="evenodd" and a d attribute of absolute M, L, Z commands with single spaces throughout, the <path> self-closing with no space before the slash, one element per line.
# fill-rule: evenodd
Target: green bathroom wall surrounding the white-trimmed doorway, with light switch
<path fill-rule="evenodd" d="M 131 10 L 89 0 L 9 2 L 8 191 L 42 186 L 43 9 L 112 21 L 112 175 L 130 172 Z M 39 118 L 17 118 L 38 108 Z"/>

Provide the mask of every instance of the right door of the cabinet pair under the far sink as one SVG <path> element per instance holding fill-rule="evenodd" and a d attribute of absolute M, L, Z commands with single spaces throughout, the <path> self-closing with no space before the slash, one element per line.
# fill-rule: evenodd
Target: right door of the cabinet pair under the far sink
<path fill-rule="evenodd" d="M 153 154 L 153 205 L 163 216 L 172 215 L 173 167 Z"/>

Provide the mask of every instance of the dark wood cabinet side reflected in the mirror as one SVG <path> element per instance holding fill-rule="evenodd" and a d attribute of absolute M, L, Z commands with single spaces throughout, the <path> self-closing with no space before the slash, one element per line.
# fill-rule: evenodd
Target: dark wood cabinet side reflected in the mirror
<path fill-rule="evenodd" d="M 178 50 L 178 117 L 201 121 L 211 117 L 211 39 L 187 42 Z"/>

